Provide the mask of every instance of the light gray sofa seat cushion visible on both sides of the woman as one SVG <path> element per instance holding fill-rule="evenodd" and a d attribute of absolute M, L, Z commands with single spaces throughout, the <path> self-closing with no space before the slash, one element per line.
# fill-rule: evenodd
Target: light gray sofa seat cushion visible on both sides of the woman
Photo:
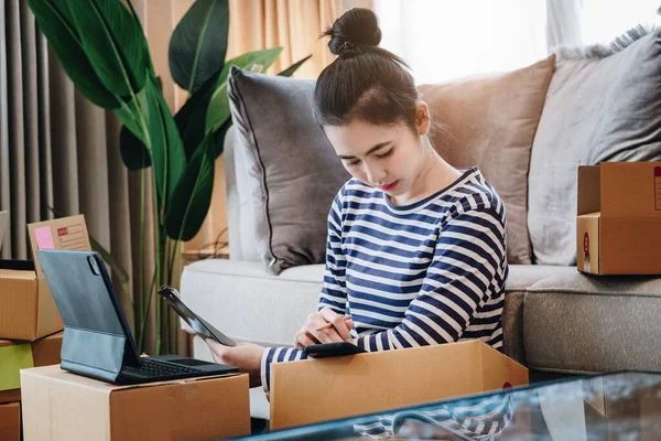
<path fill-rule="evenodd" d="M 510 266 L 502 314 L 503 352 L 508 356 L 525 362 L 525 290 L 548 277 L 575 272 L 575 267 Z M 307 314 L 316 311 L 323 277 L 324 265 L 289 268 L 272 276 L 260 262 L 206 259 L 184 268 L 181 292 L 186 304 L 204 311 L 209 323 L 232 338 L 285 346 L 292 344 Z"/>

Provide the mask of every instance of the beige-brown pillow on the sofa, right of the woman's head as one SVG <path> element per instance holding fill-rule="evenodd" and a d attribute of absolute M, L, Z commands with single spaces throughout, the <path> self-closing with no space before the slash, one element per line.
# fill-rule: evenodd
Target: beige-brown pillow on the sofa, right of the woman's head
<path fill-rule="evenodd" d="M 434 121 L 431 139 L 452 165 L 479 166 L 507 208 L 510 263 L 530 263 L 527 225 L 530 149 L 540 121 L 555 56 L 483 78 L 422 85 Z"/>

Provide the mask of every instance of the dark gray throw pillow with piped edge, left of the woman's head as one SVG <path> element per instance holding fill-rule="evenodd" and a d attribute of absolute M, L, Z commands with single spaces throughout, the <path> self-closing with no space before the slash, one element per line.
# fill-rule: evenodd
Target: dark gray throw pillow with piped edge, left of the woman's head
<path fill-rule="evenodd" d="M 323 263 L 326 220 L 350 178 L 312 116 L 314 80 L 232 67 L 228 78 L 237 149 L 251 178 L 257 251 L 269 272 Z"/>

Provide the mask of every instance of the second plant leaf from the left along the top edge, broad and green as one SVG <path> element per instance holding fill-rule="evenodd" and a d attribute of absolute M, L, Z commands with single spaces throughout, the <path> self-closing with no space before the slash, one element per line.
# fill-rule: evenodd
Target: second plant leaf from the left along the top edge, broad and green
<path fill-rule="evenodd" d="M 67 0 L 83 49 L 104 85 L 130 97 L 144 85 L 149 66 L 144 34 L 117 0 Z"/>

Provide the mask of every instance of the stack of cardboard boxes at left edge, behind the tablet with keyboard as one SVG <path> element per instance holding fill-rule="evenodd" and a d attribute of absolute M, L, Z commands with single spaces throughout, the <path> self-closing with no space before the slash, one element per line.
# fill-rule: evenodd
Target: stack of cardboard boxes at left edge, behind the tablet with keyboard
<path fill-rule="evenodd" d="M 89 249 L 83 216 L 28 226 L 39 248 Z M 0 260 L 0 439 L 21 437 L 20 370 L 59 364 L 64 324 L 39 261 Z"/>

